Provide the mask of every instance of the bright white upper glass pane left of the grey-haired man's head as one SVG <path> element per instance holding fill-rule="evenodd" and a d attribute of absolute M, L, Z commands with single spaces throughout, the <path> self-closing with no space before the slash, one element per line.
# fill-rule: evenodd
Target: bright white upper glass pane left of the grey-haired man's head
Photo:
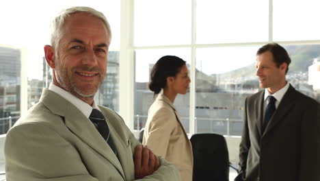
<path fill-rule="evenodd" d="M 1 3 L 0 23 L 10 28 L 0 29 L 2 44 L 19 47 L 40 47 L 49 44 L 50 23 L 53 17 L 72 5 L 70 1 L 5 1 Z M 8 16 L 10 14 L 10 16 Z"/>

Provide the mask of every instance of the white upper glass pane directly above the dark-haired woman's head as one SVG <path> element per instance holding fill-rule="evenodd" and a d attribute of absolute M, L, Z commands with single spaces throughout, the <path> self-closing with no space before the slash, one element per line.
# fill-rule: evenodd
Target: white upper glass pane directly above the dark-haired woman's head
<path fill-rule="evenodd" d="M 135 46 L 191 43 L 190 0 L 135 0 Z"/>

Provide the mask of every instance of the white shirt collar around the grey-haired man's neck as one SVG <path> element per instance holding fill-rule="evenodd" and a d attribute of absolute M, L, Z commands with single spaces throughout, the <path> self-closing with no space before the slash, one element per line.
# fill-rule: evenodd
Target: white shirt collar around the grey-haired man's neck
<path fill-rule="evenodd" d="M 85 103 L 78 97 L 75 97 L 75 95 L 72 95 L 68 91 L 56 86 L 53 83 L 50 84 L 49 90 L 52 90 L 53 92 L 57 93 L 61 97 L 64 97 L 64 99 L 66 99 L 67 101 L 70 101 L 70 103 L 76 106 L 85 115 L 85 117 L 89 118 L 93 108 L 100 110 L 96 105 L 96 101 L 94 101 L 92 106 L 90 106 L 89 104 Z"/>

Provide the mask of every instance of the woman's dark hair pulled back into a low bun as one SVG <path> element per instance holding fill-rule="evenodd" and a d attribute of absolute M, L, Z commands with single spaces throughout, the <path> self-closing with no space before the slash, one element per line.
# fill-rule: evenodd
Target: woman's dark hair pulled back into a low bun
<path fill-rule="evenodd" d="M 153 66 L 150 73 L 149 88 L 155 94 L 159 94 L 161 88 L 167 84 L 167 77 L 175 77 L 185 65 L 185 60 L 177 56 L 163 56 Z"/>

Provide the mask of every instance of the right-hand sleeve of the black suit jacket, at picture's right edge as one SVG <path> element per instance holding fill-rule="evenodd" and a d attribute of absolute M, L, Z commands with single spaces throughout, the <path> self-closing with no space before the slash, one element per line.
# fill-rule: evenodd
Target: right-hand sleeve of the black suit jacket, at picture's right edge
<path fill-rule="evenodd" d="M 299 180 L 320 180 L 320 104 L 305 104 L 301 126 Z"/>

